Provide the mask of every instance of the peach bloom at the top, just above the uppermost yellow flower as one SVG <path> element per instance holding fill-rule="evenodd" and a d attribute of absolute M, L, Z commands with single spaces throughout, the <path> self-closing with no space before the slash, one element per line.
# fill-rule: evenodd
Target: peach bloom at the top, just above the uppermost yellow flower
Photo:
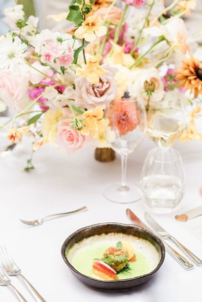
<path fill-rule="evenodd" d="M 94 15 L 100 16 L 102 19 L 107 15 L 107 22 L 114 25 L 118 25 L 123 14 L 122 9 L 113 6 L 110 10 L 109 8 L 101 8 L 97 10 Z"/>

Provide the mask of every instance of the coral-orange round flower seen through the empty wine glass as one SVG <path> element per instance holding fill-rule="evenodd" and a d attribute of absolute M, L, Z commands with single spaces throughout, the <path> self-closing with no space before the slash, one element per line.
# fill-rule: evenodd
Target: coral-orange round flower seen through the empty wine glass
<path fill-rule="evenodd" d="M 109 112 L 110 126 L 118 130 L 119 135 L 133 131 L 139 124 L 139 111 L 136 102 L 114 101 Z"/>

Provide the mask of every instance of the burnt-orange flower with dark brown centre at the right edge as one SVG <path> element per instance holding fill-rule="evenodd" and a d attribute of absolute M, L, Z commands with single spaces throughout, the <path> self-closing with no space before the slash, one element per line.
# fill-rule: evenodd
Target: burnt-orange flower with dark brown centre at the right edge
<path fill-rule="evenodd" d="M 194 97 L 202 93 L 202 66 L 192 55 L 182 61 L 182 66 L 176 71 L 176 75 L 176 81 L 180 82 L 179 87 L 190 89 Z"/>

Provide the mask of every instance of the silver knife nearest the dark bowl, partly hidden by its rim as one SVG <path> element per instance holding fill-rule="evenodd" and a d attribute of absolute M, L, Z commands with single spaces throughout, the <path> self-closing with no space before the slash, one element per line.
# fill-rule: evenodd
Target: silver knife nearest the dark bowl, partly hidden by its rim
<path fill-rule="evenodd" d="M 126 214 L 129 217 L 129 219 L 132 221 L 132 223 L 141 226 L 148 231 L 154 233 L 153 230 L 151 230 L 146 224 L 144 224 L 130 209 L 126 210 Z M 162 240 L 162 238 L 160 238 Z M 178 253 L 175 249 L 173 249 L 171 246 L 169 246 L 167 243 L 165 243 L 164 240 L 162 240 L 166 249 L 166 252 L 173 257 L 175 261 L 177 261 L 178 264 L 180 264 L 185 270 L 191 270 L 194 268 L 193 264 L 191 264 L 186 258 L 184 258 L 180 253 Z"/>

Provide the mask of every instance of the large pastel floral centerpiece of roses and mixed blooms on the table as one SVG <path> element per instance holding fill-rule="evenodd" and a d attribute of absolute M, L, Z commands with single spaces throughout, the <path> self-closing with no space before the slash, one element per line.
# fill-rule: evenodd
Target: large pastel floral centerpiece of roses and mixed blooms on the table
<path fill-rule="evenodd" d="M 122 7 L 72 0 L 67 20 L 75 27 L 65 33 L 39 31 L 38 18 L 25 19 L 22 5 L 5 10 L 11 30 L 0 39 L 0 98 L 16 112 L 10 127 L 1 127 L 12 143 L 32 133 L 34 151 L 47 143 L 68 153 L 85 144 L 107 147 L 113 135 L 104 110 L 126 91 L 146 109 L 151 102 L 196 104 L 181 139 L 201 140 L 194 117 L 202 65 L 193 55 L 201 31 L 191 36 L 182 19 L 195 1 L 165 8 L 161 0 L 123 0 Z M 16 128 L 19 116 L 25 125 Z"/>

